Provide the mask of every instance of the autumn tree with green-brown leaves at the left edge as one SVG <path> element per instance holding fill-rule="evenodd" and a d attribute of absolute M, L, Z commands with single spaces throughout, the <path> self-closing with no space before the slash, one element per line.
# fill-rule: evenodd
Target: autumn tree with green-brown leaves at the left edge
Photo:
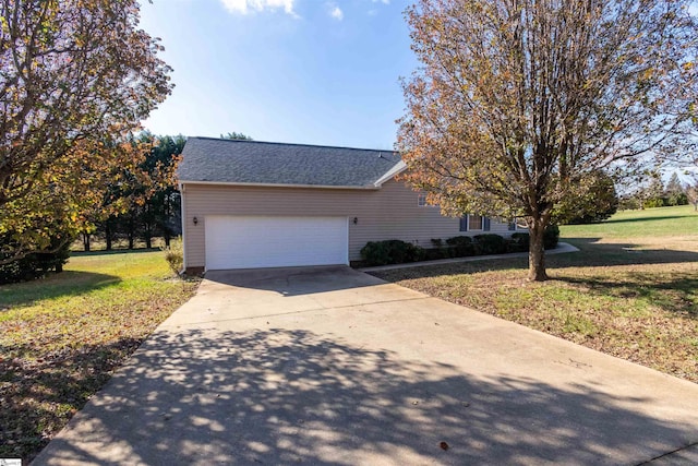
<path fill-rule="evenodd" d="M 132 155 L 128 134 L 170 93 L 139 8 L 0 0 L 0 263 L 59 248 L 56 225 L 74 238 Z"/>

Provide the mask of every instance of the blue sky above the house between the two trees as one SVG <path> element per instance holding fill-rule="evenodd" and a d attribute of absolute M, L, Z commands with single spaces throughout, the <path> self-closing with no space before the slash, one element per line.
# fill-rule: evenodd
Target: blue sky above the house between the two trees
<path fill-rule="evenodd" d="M 160 37 L 172 95 L 156 134 L 392 148 L 417 68 L 407 0 L 154 0 L 141 26 Z"/>

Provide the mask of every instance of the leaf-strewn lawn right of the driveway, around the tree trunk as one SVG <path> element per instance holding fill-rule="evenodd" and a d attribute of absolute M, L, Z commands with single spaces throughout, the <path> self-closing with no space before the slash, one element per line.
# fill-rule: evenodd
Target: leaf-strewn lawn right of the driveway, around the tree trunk
<path fill-rule="evenodd" d="M 374 275 L 672 375 L 698 382 L 698 214 L 619 213 L 561 228 L 580 252 L 549 255 L 545 283 L 527 260 L 422 266 Z"/>

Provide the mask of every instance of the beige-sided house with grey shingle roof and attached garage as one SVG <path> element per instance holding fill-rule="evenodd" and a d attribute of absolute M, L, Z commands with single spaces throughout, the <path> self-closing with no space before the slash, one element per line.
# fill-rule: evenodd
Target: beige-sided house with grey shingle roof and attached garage
<path fill-rule="evenodd" d="M 368 241 L 431 248 L 509 224 L 450 218 L 395 179 L 398 153 L 189 138 L 178 168 L 184 268 L 349 264 Z"/>

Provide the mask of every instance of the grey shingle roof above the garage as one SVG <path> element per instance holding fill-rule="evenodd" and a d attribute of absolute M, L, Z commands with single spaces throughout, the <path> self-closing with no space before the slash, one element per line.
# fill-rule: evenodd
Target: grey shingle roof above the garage
<path fill-rule="evenodd" d="M 181 182 L 373 186 L 400 163 L 393 151 L 189 138 Z"/>

